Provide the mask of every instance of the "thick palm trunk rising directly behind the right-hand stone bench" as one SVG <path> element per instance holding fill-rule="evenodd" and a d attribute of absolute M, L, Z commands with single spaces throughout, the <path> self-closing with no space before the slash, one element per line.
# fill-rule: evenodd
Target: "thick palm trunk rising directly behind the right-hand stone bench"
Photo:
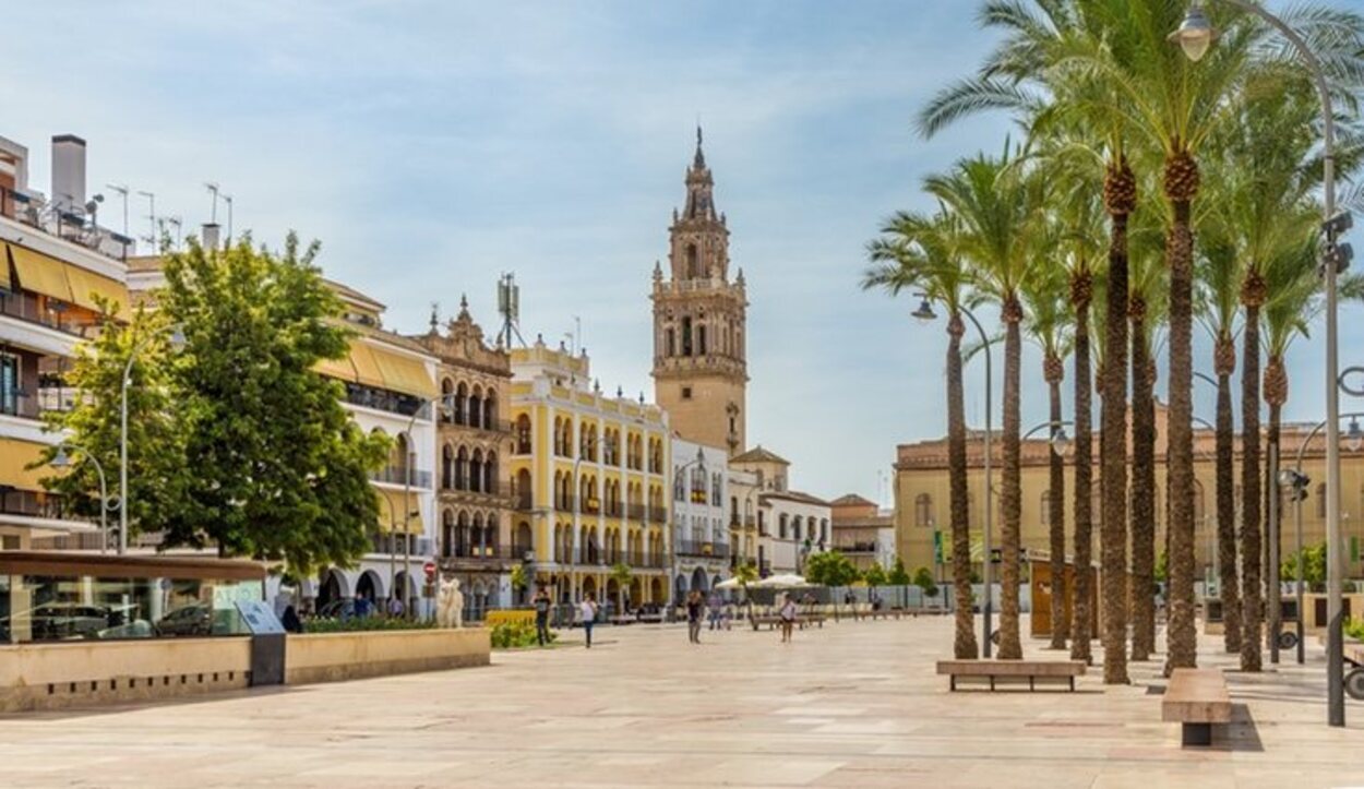
<path fill-rule="evenodd" d="M 1181 146 L 1176 146 L 1181 150 Z M 1170 497 L 1170 625 L 1166 673 L 1198 665 L 1194 622 L 1194 232 L 1198 164 L 1187 153 L 1165 165 L 1165 194 L 1174 209 L 1166 239 L 1170 266 L 1170 377 L 1166 490 Z"/>

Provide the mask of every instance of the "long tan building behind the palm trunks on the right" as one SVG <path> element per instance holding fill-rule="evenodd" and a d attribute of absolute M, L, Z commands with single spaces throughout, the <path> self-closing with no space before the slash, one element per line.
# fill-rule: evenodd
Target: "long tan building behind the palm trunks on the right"
<path fill-rule="evenodd" d="M 1155 530 L 1157 556 L 1165 545 L 1166 524 L 1166 494 L 1165 494 L 1165 430 L 1166 410 L 1157 405 L 1157 445 L 1155 445 Z M 1311 433 L 1314 425 L 1286 425 L 1281 440 L 1281 467 L 1292 467 L 1299 448 Z M 1344 430 L 1342 430 L 1344 431 Z M 1045 431 L 1042 431 L 1045 433 Z M 993 547 L 1000 543 L 1001 509 L 998 500 L 1000 468 L 1003 465 L 1003 448 L 994 434 L 994 489 L 993 502 Z M 1342 550 L 1348 561 L 1348 572 L 1359 577 L 1364 565 L 1360 562 L 1360 543 L 1364 542 L 1364 450 L 1349 445 L 1341 453 L 1341 524 L 1344 532 Z M 1031 440 L 1023 444 L 1023 515 L 1022 541 L 1028 550 L 1046 550 L 1048 547 L 1048 490 L 1049 472 L 1048 457 L 1052 445 L 1046 440 Z M 1215 468 L 1215 435 L 1211 430 L 1198 429 L 1194 431 L 1194 536 L 1195 536 L 1195 565 L 1203 577 L 1214 573 L 1213 564 L 1217 557 L 1217 468 Z M 1314 438 L 1307 448 L 1303 461 L 1303 472 L 1311 478 L 1311 490 L 1303 501 L 1303 542 L 1307 546 L 1319 545 L 1326 541 L 1326 446 L 1320 435 Z M 1236 441 L 1236 456 L 1240 457 L 1240 438 Z M 1101 524 L 1099 508 L 1099 464 L 1098 464 L 1098 433 L 1094 437 L 1094 557 L 1098 561 L 1098 539 Z M 971 431 L 967 438 L 967 491 L 971 506 L 971 558 L 981 561 L 981 521 L 983 519 L 985 471 L 983 434 Z M 1262 463 L 1263 470 L 1263 463 Z M 1065 468 L 1065 534 L 1067 554 L 1073 551 L 1073 485 L 1075 470 L 1067 457 Z M 1241 464 L 1236 463 L 1236 500 L 1237 500 L 1237 530 L 1240 530 L 1240 474 Z M 949 487 L 947 465 L 947 440 L 922 441 L 918 444 L 904 444 L 898 448 L 895 464 L 895 528 L 896 545 L 904 566 L 914 572 L 917 568 L 934 569 L 938 561 L 948 561 L 951 556 L 951 517 L 949 517 Z M 1293 516 L 1294 508 L 1286 501 L 1281 526 L 1281 556 L 1289 556 L 1294 546 Z M 941 551 L 934 546 L 941 542 Z M 1131 551 L 1128 553 L 1131 557 Z"/>

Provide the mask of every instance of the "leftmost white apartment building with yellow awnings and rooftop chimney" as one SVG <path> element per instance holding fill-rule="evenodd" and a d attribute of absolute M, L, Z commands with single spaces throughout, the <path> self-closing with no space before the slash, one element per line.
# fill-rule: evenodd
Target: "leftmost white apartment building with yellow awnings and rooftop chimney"
<path fill-rule="evenodd" d="M 86 199 L 85 171 L 85 141 L 53 137 L 46 197 L 29 184 L 27 147 L 0 138 L 0 550 L 104 542 L 98 519 L 75 515 L 42 489 L 56 471 L 29 468 L 60 441 L 44 415 L 71 407 L 65 374 L 76 348 L 128 314 L 132 239 L 97 224 L 104 198 Z M 97 298 L 117 310 L 106 315 Z M 117 468 L 104 472 L 116 496 Z"/>

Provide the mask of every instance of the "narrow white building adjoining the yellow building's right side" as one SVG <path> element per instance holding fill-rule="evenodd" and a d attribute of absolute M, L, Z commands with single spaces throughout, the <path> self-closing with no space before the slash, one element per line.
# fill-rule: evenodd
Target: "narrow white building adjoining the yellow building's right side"
<path fill-rule="evenodd" d="M 672 601 L 709 591 L 730 575 L 728 452 L 672 440 Z"/>

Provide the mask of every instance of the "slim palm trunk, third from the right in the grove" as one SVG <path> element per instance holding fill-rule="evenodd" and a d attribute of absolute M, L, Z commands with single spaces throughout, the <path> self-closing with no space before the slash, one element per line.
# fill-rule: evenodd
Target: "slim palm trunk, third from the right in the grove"
<path fill-rule="evenodd" d="M 1241 651 L 1241 591 L 1236 568 L 1236 426 L 1232 422 L 1232 373 L 1236 341 L 1218 337 L 1217 369 L 1217 571 L 1222 597 L 1222 640 L 1229 654 Z"/>

